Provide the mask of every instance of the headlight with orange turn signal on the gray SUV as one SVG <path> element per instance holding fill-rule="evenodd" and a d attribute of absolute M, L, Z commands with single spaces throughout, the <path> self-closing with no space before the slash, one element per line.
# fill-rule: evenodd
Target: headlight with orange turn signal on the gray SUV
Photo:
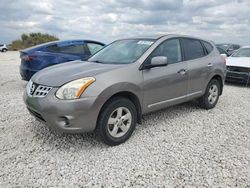
<path fill-rule="evenodd" d="M 56 97 L 59 99 L 78 99 L 85 89 L 95 81 L 95 78 L 81 78 L 69 82 L 60 87 L 56 92 Z"/>

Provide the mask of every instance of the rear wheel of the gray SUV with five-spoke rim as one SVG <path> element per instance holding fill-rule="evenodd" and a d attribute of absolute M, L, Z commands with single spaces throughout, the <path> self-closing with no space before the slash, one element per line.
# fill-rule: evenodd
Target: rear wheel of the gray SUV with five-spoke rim
<path fill-rule="evenodd" d="M 215 97 L 215 94 L 212 95 L 210 93 L 210 90 L 212 91 L 213 87 L 214 87 L 214 90 L 217 87 L 217 96 L 216 97 Z M 214 108 L 219 100 L 220 93 L 221 93 L 221 86 L 220 86 L 219 81 L 217 79 L 212 79 L 207 85 L 207 89 L 206 89 L 205 94 L 201 98 L 198 99 L 199 106 L 201 108 L 204 108 L 204 109 Z M 210 97 L 211 95 L 212 95 L 213 99 L 211 99 L 211 97 Z"/>

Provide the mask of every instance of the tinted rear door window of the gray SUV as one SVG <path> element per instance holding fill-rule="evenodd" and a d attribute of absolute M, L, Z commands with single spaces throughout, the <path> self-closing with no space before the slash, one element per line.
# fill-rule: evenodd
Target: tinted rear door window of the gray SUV
<path fill-rule="evenodd" d="M 196 39 L 182 39 L 185 60 L 197 59 L 205 56 L 201 42 Z"/>

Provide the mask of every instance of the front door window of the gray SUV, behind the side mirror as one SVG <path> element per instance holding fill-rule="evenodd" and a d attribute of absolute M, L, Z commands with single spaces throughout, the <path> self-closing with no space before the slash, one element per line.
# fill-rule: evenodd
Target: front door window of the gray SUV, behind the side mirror
<path fill-rule="evenodd" d="M 169 39 L 161 43 L 149 56 L 147 64 L 151 62 L 153 57 L 165 56 L 168 58 L 168 63 L 177 63 L 182 60 L 181 46 L 179 39 Z"/>

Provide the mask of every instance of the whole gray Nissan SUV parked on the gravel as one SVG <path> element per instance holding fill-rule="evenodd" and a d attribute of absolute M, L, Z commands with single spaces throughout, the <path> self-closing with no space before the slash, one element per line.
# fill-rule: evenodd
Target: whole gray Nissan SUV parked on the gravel
<path fill-rule="evenodd" d="M 117 40 L 88 61 L 36 73 L 24 101 L 31 115 L 63 132 L 96 131 L 108 145 L 126 141 L 143 114 L 197 99 L 215 107 L 226 66 L 215 45 L 183 36 Z"/>

